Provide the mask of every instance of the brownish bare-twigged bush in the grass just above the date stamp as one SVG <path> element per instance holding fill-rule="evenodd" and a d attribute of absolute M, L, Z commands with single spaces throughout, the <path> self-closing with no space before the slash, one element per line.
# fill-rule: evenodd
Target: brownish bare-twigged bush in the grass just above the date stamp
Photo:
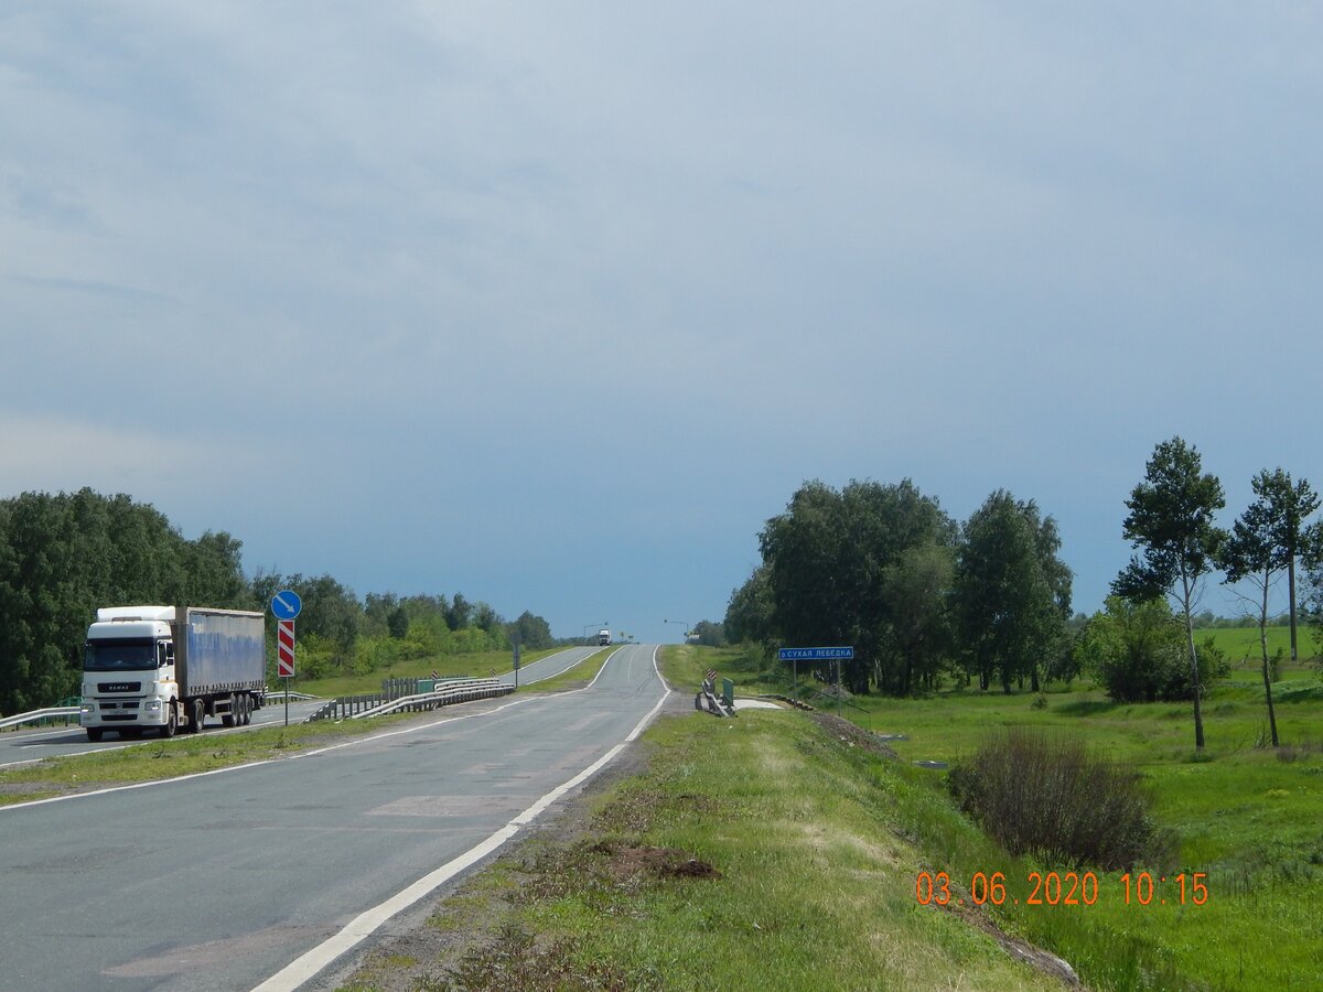
<path fill-rule="evenodd" d="M 1007 727 L 947 782 L 962 808 L 1012 854 L 1105 870 L 1170 860 L 1139 772 L 1090 754 L 1064 734 Z"/>

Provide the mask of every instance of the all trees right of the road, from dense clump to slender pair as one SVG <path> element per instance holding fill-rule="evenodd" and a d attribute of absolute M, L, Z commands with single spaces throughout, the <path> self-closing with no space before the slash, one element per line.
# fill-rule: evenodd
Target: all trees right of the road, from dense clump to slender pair
<path fill-rule="evenodd" d="M 1122 534 L 1135 554 L 1105 608 L 1085 618 L 1070 612 L 1056 521 L 1032 500 L 998 489 L 958 524 L 908 479 L 839 491 L 810 481 L 759 533 L 762 563 L 732 593 L 721 634 L 769 656 L 777 644 L 852 645 L 841 676 L 857 693 L 910 696 L 943 680 L 1039 690 L 1084 672 L 1118 701 L 1192 701 L 1203 747 L 1200 702 L 1229 664 L 1195 630 L 1213 620 L 1199 604 L 1220 577 L 1259 630 L 1275 745 L 1270 594 L 1285 578 L 1291 660 L 1298 614 L 1323 643 L 1323 524 L 1308 522 L 1319 508 L 1308 481 L 1275 468 L 1252 487 L 1253 503 L 1220 528 L 1221 483 L 1181 438 L 1159 443 L 1126 500 Z"/>

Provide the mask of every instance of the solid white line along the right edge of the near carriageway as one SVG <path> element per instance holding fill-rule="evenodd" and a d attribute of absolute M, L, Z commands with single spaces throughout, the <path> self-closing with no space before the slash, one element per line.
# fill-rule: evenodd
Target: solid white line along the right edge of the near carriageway
<path fill-rule="evenodd" d="M 613 657 L 615 657 L 615 655 L 619 653 L 619 651 L 622 649 L 623 648 L 613 651 L 611 655 L 606 659 L 606 663 L 609 663 Z M 606 668 L 606 663 L 602 664 L 603 669 Z M 292 960 L 284 968 L 282 968 L 275 975 L 263 981 L 261 985 L 254 988 L 253 992 L 292 992 L 294 989 L 299 988 L 304 981 L 312 979 L 318 972 L 324 970 L 343 954 L 347 954 L 355 946 L 357 946 L 366 938 L 372 936 L 372 934 L 376 932 L 392 917 L 398 915 L 400 913 L 402 913 L 404 910 L 409 909 L 415 902 L 418 902 L 421 898 L 434 891 L 441 885 L 445 885 L 447 881 L 454 878 L 460 872 L 466 870 L 467 868 L 471 868 L 472 865 L 478 864 L 492 852 L 500 849 L 501 845 L 504 845 L 516 833 L 519 833 L 519 829 L 521 827 L 527 827 L 533 820 L 536 820 L 542 812 L 546 811 L 549 806 L 552 806 L 552 803 L 554 803 L 557 799 L 564 796 L 572 788 L 582 784 L 593 775 L 595 775 L 598 771 L 601 771 L 622 750 L 624 750 L 624 746 L 627 743 L 638 739 L 639 734 L 643 733 L 644 727 L 647 727 L 648 722 L 656 716 L 658 710 L 662 709 L 663 705 L 665 705 L 665 701 L 671 694 L 669 686 L 667 686 L 665 680 L 662 679 L 662 671 L 656 668 L 656 649 L 652 651 L 652 667 L 658 673 L 658 679 L 662 680 L 662 685 L 665 688 L 665 693 L 662 696 L 660 700 L 658 700 L 658 704 L 651 710 L 648 710 L 647 716 L 644 716 L 634 726 L 634 729 L 628 733 L 624 741 L 611 747 L 606 754 L 603 754 L 595 762 L 589 765 L 586 768 L 583 768 L 583 771 L 572 778 L 569 782 L 565 782 L 553 788 L 550 792 L 538 799 L 536 803 L 528 807 L 528 809 L 521 812 L 519 816 L 516 816 L 513 820 L 507 823 L 499 831 L 492 833 L 484 841 L 470 848 L 459 857 L 447 861 L 437 870 L 425 874 L 417 882 L 396 893 L 385 902 L 373 906 L 372 909 L 365 910 L 364 913 L 360 913 L 357 917 L 349 921 L 349 923 L 339 934 L 328 938 L 327 940 L 321 942 L 312 950 L 304 952 L 302 956 Z M 601 675 L 601 672 L 598 672 L 598 675 Z M 594 681 L 597 680 L 594 679 Z"/>

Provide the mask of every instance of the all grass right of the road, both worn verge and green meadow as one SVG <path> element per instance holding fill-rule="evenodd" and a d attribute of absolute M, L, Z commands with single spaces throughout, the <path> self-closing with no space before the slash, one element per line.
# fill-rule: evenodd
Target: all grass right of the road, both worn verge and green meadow
<path fill-rule="evenodd" d="M 665 652 L 679 686 L 696 686 L 708 668 L 741 694 L 789 688 L 783 672 L 738 652 Z M 586 840 L 538 841 L 497 862 L 431 922 L 447 939 L 500 934 L 458 972 L 443 959 L 463 988 L 546 976 L 630 988 L 998 988 L 1024 976 L 996 971 L 1009 966 L 979 930 L 918 906 L 916 877 L 947 872 L 968 903 L 975 873 L 1002 872 L 1005 905 L 982 913 L 1070 960 L 1090 987 L 1315 988 L 1323 684 L 1297 665 L 1274 692 L 1287 747 L 1259 746 L 1262 688 L 1250 663 L 1208 701 L 1209 746 L 1197 757 L 1188 706 L 1118 706 L 1078 684 L 1041 697 L 949 692 L 845 708 L 863 726 L 906 734 L 892 745 L 900 762 L 790 712 L 662 721 L 644 735 L 655 749 L 648 771 L 606 796 Z M 1192 903 L 1188 877 L 1187 905 L 1175 881 L 1159 882 L 1147 906 L 1138 890 L 1127 903 L 1113 872 L 1101 873 L 1094 905 L 1029 906 L 1029 873 L 1066 866 L 1008 856 L 955 809 L 941 771 L 913 763 L 955 761 L 1005 725 L 1080 733 L 1138 765 L 1156 817 L 1180 835 L 1176 862 L 1151 866 L 1155 878 L 1207 872 L 1208 902 Z M 495 917 L 493 898 L 508 903 Z M 450 987 L 435 964 L 380 959 L 352 988 L 378 988 L 376 970 L 400 967 L 430 976 L 419 988 Z"/>

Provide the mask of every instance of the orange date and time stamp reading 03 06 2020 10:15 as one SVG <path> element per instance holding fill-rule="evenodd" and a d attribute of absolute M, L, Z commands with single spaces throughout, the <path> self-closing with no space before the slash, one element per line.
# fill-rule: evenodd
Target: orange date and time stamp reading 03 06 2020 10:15
<path fill-rule="evenodd" d="M 1207 872 L 1180 872 L 1156 878 L 1151 872 L 1126 872 L 1118 881 L 1126 906 L 1166 906 L 1168 902 L 1203 906 L 1209 897 Z M 1005 882 L 1004 872 L 975 872 L 970 878 L 968 901 L 975 906 L 1020 905 L 1021 899 L 1007 891 Z M 1027 888 L 1023 899 L 1027 906 L 1094 906 L 1099 894 L 1094 872 L 1029 872 Z M 923 906 L 963 906 L 966 902 L 962 894 L 953 891 L 951 877 L 946 872 L 919 872 L 914 878 L 914 897 Z"/>

